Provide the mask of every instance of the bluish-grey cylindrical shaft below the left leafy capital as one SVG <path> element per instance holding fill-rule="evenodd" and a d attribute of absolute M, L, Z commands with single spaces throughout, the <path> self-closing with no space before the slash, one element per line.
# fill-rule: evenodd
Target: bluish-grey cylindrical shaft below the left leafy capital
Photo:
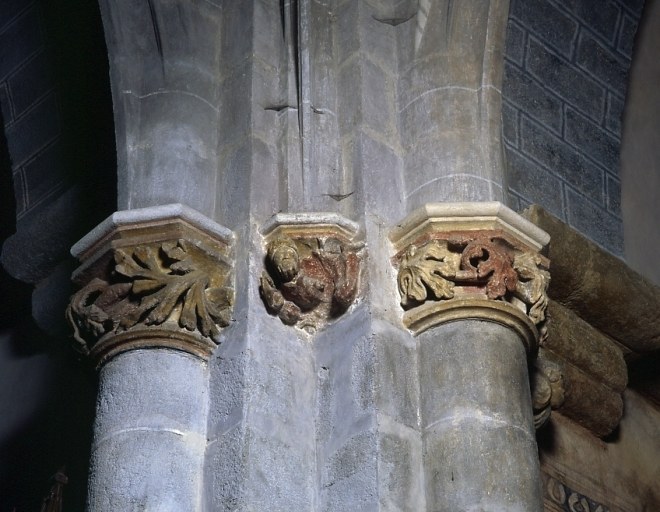
<path fill-rule="evenodd" d="M 201 510 L 206 363 L 138 349 L 111 359 L 99 379 L 88 510 Z"/>

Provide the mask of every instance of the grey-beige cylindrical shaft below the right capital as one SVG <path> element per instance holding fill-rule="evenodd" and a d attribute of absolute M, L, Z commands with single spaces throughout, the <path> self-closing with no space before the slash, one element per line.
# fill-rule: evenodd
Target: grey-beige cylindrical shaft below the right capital
<path fill-rule="evenodd" d="M 419 336 L 428 510 L 542 510 L 525 347 L 466 319 Z"/>

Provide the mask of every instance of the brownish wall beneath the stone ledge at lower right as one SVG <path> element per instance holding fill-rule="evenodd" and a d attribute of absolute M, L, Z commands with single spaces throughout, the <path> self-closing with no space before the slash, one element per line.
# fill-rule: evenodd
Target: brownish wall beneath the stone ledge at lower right
<path fill-rule="evenodd" d="M 634 391 L 627 390 L 624 401 L 626 414 L 607 441 L 561 414 L 553 414 L 547 430 L 539 433 L 541 469 L 565 486 L 546 487 L 546 510 L 570 510 L 569 500 L 579 505 L 580 495 L 596 503 L 591 510 L 598 505 L 612 512 L 660 507 L 660 414 Z"/>

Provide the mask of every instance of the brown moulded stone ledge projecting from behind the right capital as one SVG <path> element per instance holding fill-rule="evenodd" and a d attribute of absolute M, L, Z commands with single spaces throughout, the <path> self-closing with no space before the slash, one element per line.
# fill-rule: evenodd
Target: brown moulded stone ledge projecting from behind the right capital
<path fill-rule="evenodd" d="M 610 406 L 587 400 L 558 410 L 594 433 L 605 432 L 607 423 L 613 429 L 614 417 L 599 409 L 620 419 L 616 395 L 628 380 L 660 405 L 660 288 L 541 207 L 531 206 L 524 215 L 552 237 L 545 348 L 561 358 L 560 366 L 571 367 L 574 396 L 609 397 Z"/>

